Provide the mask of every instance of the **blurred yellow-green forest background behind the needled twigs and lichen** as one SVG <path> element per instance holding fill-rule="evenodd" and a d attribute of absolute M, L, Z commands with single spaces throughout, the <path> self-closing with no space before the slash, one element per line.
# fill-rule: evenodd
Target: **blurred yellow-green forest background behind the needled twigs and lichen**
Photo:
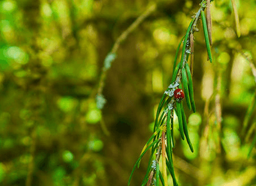
<path fill-rule="evenodd" d="M 97 109 L 104 58 L 152 3 L 157 10 L 117 50 L 105 79 L 106 105 Z M 126 185 L 152 134 L 178 42 L 199 3 L 1 1 L 0 185 Z M 181 186 L 256 185 L 256 150 L 247 158 L 256 111 L 246 128 L 249 135 L 241 133 L 255 92 L 253 73 L 241 53 L 252 60 L 256 56 L 256 2 L 236 3 L 240 38 L 231 1 L 212 2 L 213 64 L 207 61 L 200 21 L 194 36 L 197 113 L 185 110 L 194 153 L 181 140 L 174 118 L 174 170 Z M 221 126 L 216 122 L 217 82 Z M 148 155 L 132 185 L 142 182 Z"/>

